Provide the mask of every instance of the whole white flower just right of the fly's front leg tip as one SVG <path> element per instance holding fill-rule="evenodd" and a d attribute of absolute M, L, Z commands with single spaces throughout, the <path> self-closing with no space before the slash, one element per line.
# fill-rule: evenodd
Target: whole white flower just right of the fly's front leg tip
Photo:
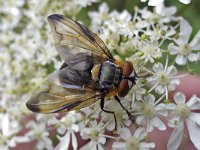
<path fill-rule="evenodd" d="M 144 97 L 143 102 L 136 101 L 134 110 L 138 115 L 136 123 L 146 126 L 147 132 L 152 132 L 154 128 L 166 130 L 166 126 L 159 117 L 166 117 L 167 110 L 163 103 L 158 104 L 152 94 Z"/>

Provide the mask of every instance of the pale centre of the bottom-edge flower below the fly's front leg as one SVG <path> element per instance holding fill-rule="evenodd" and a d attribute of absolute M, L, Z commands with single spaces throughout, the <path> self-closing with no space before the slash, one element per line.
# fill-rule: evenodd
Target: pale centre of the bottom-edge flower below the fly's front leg
<path fill-rule="evenodd" d="M 134 136 L 130 136 L 126 140 L 127 150 L 139 150 L 139 140 Z"/>

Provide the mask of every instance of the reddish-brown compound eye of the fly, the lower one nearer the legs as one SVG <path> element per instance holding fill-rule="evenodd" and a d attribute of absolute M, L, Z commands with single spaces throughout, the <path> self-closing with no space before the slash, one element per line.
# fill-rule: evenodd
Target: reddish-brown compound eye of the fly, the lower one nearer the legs
<path fill-rule="evenodd" d="M 128 80 L 122 79 L 118 86 L 118 96 L 124 97 L 128 94 L 128 92 L 129 92 Z"/>

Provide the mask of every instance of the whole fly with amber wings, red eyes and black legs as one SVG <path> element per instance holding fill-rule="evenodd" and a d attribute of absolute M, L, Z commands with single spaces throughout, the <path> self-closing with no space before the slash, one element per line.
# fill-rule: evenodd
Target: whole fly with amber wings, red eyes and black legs
<path fill-rule="evenodd" d="M 113 58 L 103 41 L 80 23 L 53 14 L 48 17 L 56 49 L 64 60 L 60 70 L 47 77 L 47 83 L 26 103 L 34 112 L 55 113 L 77 110 L 114 96 L 122 108 L 119 97 L 127 95 L 135 84 L 136 75 L 128 61 Z M 72 50 L 68 45 L 82 49 Z M 117 126 L 117 125 L 116 125 Z M 116 128 L 116 127 L 115 127 Z"/>

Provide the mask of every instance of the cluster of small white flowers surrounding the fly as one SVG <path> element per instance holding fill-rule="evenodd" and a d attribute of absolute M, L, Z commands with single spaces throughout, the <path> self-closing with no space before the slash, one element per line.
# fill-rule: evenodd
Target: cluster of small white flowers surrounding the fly
<path fill-rule="evenodd" d="M 168 95 L 181 77 L 192 72 L 189 64 L 200 60 L 200 32 L 190 40 L 190 23 L 175 16 L 176 7 L 165 7 L 162 1 L 156 1 L 159 5 L 153 11 L 135 7 L 134 15 L 110 11 L 106 3 L 88 12 L 90 29 L 114 57 L 133 63 L 136 85 L 121 102 L 134 123 L 112 97 L 105 109 L 115 113 L 116 121 L 100 109 L 99 101 L 79 112 L 48 115 L 32 114 L 25 107 L 30 95 L 62 63 L 45 18 L 60 13 L 75 19 L 82 8 L 98 0 L 0 2 L 0 149 L 31 142 L 36 149 L 106 149 L 110 141 L 112 149 L 153 149 L 156 144 L 150 135 L 169 127 L 173 132 L 167 149 L 180 146 L 185 127 L 200 149 L 200 98 L 193 95 L 186 100 L 181 92 L 174 98 Z M 149 0 L 151 5 L 154 2 Z M 179 75 L 179 66 L 188 71 Z"/>

